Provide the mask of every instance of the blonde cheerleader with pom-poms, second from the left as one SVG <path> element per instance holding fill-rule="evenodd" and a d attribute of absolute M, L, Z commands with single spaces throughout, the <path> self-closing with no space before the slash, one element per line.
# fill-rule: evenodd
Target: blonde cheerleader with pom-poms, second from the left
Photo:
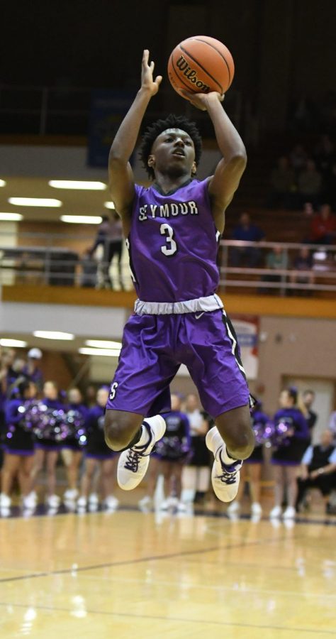
<path fill-rule="evenodd" d="M 43 399 L 47 408 L 63 410 L 64 405 L 58 398 L 58 386 L 55 381 L 47 381 L 43 386 Z M 47 471 L 47 506 L 58 508 L 60 497 L 56 494 L 56 464 L 61 444 L 51 437 L 38 437 L 35 444 L 35 460 L 33 466 L 33 484 L 35 486 L 38 474 L 45 467 Z"/>

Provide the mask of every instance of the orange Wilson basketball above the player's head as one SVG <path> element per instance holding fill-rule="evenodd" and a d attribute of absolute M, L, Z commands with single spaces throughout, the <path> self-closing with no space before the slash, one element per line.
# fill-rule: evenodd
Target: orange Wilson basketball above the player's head
<path fill-rule="evenodd" d="M 223 43 L 208 35 L 194 35 L 179 43 L 168 61 L 168 77 L 182 97 L 191 93 L 228 91 L 235 74 L 233 57 Z"/>

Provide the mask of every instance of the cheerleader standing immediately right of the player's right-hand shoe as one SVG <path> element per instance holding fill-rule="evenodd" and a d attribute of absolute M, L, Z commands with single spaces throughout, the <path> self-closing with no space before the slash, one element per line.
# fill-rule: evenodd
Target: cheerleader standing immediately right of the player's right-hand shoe
<path fill-rule="evenodd" d="M 251 417 L 252 417 L 252 428 L 264 431 L 266 425 L 270 422 L 269 417 L 262 413 L 262 404 L 257 401 L 252 408 Z M 237 497 L 235 501 L 230 503 L 228 507 L 228 515 L 235 515 L 240 510 L 240 500 L 242 498 L 242 494 L 245 488 L 245 481 L 249 482 L 250 486 L 250 498 L 251 498 L 251 515 L 252 518 L 261 517 L 262 515 L 262 506 L 260 506 L 260 479 L 262 476 L 262 464 L 263 464 L 263 444 L 262 442 L 258 442 L 258 437 L 256 437 L 256 445 L 250 457 L 245 459 L 244 464 L 242 464 L 242 469 L 240 471 L 240 484 L 237 492 Z"/>

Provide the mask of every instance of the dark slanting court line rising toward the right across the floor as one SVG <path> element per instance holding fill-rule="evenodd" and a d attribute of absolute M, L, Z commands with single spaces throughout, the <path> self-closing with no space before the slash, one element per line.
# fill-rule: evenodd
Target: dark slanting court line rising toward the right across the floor
<path fill-rule="evenodd" d="M 306 538 L 306 537 L 305 537 Z M 300 540 L 301 537 L 291 537 L 291 540 Z M 168 555 L 150 555 L 150 557 L 138 557 L 138 559 L 123 559 L 120 562 L 108 562 L 104 564 L 94 564 L 92 566 L 82 566 L 75 568 L 62 568 L 59 570 L 50 570 L 50 572 L 33 572 L 30 574 L 19 575 L 18 577 L 4 577 L 0 579 L 0 584 L 6 583 L 6 581 L 22 581 L 23 579 L 36 579 L 38 577 L 52 577 L 55 574 L 71 574 L 73 572 L 85 572 L 87 570 L 99 570 L 102 568 L 113 568 L 118 566 L 128 566 L 133 564 L 141 564 L 145 562 L 153 562 L 164 559 L 174 559 L 175 557 L 188 557 L 190 555 L 205 555 L 207 552 L 218 552 L 219 550 L 231 550 L 233 548 L 247 548 L 251 546 L 260 546 L 265 543 L 279 543 L 281 541 L 286 540 L 286 537 L 279 537 L 278 539 L 261 539 L 255 540 L 253 542 L 240 542 L 237 544 L 228 544 L 224 546 L 212 546 L 210 548 L 201 548 L 198 550 L 181 550 L 181 552 L 171 552 Z"/>

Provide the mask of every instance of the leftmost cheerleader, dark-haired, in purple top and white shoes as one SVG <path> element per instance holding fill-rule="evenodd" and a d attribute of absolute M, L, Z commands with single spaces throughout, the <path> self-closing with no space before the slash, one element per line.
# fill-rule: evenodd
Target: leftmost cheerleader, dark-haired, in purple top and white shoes
<path fill-rule="evenodd" d="M 34 508 L 35 498 L 31 493 L 31 471 L 34 461 L 34 436 L 25 429 L 24 405 L 36 395 L 35 384 L 22 378 L 18 381 L 15 397 L 6 403 L 6 436 L 4 440 L 4 467 L 2 469 L 1 508 L 11 506 L 11 488 L 18 477 L 24 508 Z"/>

